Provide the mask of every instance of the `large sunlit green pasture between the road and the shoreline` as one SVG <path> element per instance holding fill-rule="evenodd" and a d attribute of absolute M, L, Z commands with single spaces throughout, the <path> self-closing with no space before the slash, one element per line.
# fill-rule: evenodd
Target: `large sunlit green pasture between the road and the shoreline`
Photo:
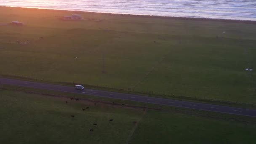
<path fill-rule="evenodd" d="M 245 71 L 256 64 L 255 24 L 5 7 L 0 13 L 0 24 L 26 24 L 0 26 L 1 75 L 256 104 L 256 79 Z M 73 13 L 85 20 L 57 19 Z"/>

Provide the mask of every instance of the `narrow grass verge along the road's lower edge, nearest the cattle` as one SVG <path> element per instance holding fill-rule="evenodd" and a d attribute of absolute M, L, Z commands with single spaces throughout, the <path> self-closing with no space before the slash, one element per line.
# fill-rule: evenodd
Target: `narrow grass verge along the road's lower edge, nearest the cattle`
<path fill-rule="evenodd" d="M 90 96 L 90 95 L 82 95 L 82 94 L 74 94 L 74 93 L 66 93 L 60 91 L 48 91 L 36 88 L 25 88 L 25 87 L 10 87 L 8 85 L 2 86 L 3 91 L 17 91 L 17 92 L 24 92 L 24 93 L 32 93 L 32 94 L 40 94 L 46 97 L 56 97 L 56 98 L 65 98 L 70 99 L 79 98 L 82 101 L 86 101 L 90 104 L 104 104 L 108 106 L 115 106 L 115 107 L 127 107 L 127 108 L 136 108 L 136 109 L 154 109 L 157 111 L 164 111 L 164 112 L 178 112 L 187 115 L 197 115 L 201 117 L 208 117 L 213 119 L 220 119 L 220 120 L 231 120 L 237 122 L 245 122 L 245 123 L 256 123 L 256 117 L 248 117 L 243 115 L 231 115 L 219 112 L 209 112 L 203 111 L 198 109 L 188 109 L 182 107 L 170 107 L 158 104 L 150 104 L 150 103 L 141 103 L 137 101 L 128 101 L 122 99 L 110 99 L 105 97 L 99 96 Z M 124 105 L 123 105 L 124 104 Z M 246 108 L 246 107 L 244 107 Z M 247 107 L 248 108 L 248 107 Z"/>

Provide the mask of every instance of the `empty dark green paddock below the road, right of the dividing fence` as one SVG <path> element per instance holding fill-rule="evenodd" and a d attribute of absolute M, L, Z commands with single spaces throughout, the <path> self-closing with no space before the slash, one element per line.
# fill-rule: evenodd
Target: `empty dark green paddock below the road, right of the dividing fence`
<path fill-rule="evenodd" d="M 256 125 L 179 113 L 149 111 L 140 121 L 133 144 L 254 144 Z"/>

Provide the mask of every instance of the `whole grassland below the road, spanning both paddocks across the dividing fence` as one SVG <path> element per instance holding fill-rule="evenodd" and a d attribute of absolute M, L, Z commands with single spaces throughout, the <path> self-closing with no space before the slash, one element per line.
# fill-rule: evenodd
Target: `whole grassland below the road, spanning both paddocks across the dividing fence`
<path fill-rule="evenodd" d="M 255 123 L 68 101 L 1 90 L 0 143 L 13 144 L 254 144 Z M 82 108 L 90 110 L 82 111 Z M 71 118 L 70 115 L 75 115 Z M 224 114 L 223 114 L 224 115 Z M 109 119 L 114 119 L 109 122 Z M 139 121 L 139 119 L 141 119 Z M 133 121 L 139 121 L 137 129 Z M 93 123 L 98 126 L 94 127 Z M 93 129 L 90 132 L 89 129 Z M 131 136 L 131 137 L 130 137 Z"/>

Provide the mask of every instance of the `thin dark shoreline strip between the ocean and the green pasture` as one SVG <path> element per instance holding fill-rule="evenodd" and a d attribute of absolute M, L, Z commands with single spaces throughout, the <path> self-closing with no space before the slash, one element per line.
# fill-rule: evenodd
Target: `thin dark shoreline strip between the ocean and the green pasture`
<path fill-rule="evenodd" d="M 139 15 L 139 14 L 123 14 L 123 13 L 103 13 L 103 12 L 89 12 L 89 11 L 72 11 L 72 10 L 59 10 L 50 8 L 24 8 L 24 7 L 11 7 L 11 6 L 0 6 L 0 8 L 20 8 L 30 10 L 43 10 L 43 11 L 63 11 L 63 12 L 75 12 L 79 14 L 92 13 L 102 14 L 110 16 L 122 16 L 122 17 L 140 17 L 140 18 L 158 18 L 158 19 L 176 19 L 176 20 L 193 20 L 193 21 L 216 21 L 216 22 L 228 22 L 228 23 L 245 23 L 245 24 L 256 24 L 256 21 L 251 20 L 235 20 L 235 19 L 211 19 L 211 18 L 192 18 L 192 17 L 176 17 L 176 16 L 154 16 L 154 15 Z"/>

